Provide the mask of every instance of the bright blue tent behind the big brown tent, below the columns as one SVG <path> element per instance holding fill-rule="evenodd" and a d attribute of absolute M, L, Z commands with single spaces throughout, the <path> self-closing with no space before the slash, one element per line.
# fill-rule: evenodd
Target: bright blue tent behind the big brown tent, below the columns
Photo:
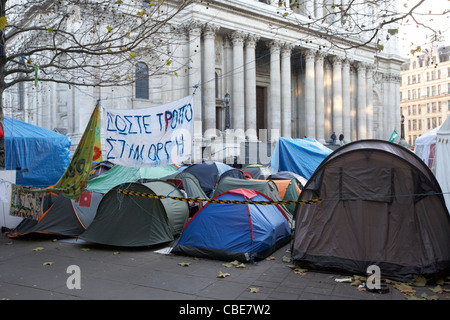
<path fill-rule="evenodd" d="M 333 151 L 320 142 L 279 138 L 270 162 L 272 172 L 290 171 L 309 179 L 319 164 Z"/>

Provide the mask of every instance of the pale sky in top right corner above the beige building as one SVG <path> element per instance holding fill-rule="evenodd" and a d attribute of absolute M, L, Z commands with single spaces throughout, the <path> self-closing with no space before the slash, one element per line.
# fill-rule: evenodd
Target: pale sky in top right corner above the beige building
<path fill-rule="evenodd" d="M 419 0 L 399 0 L 400 10 L 402 12 L 409 11 L 418 2 Z M 450 45 L 450 0 L 425 0 L 414 12 L 416 12 L 414 17 L 417 21 L 441 31 L 440 46 Z M 447 13 L 443 14 L 444 12 Z M 405 19 L 399 28 L 401 55 L 406 58 L 411 57 L 410 51 L 417 46 L 421 46 L 422 52 L 425 49 L 432 49 L 430 34 L 432 31 L 424 26 L 418 26 L 413 19 Z"/>

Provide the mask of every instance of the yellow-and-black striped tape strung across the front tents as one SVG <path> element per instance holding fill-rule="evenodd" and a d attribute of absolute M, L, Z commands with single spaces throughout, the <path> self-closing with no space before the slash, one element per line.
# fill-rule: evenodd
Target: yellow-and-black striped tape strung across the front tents
<path fill-rule="evenodd" d="M 145 198 L 153 198 L 153 199 L 173 199 L 178 201 L 186 201 L 186 202 L 211 202 L 211 203 L 220 203 L 220 204 L 260 204 L 260 205 L 272 205 L 272 204 L 320 204 L 322 203 L 321 199 L 313 199 L 313 200 L 268 200 L 268 201 L 252 201 L 252 200 L 218 200 L 218 199 L 202 199 L 202 198 L 183 198 L 183 197 L 173 197 L 173 196 L 164 196 L 157 194 L 149 194 L 144 192 L 137 191 L 129 191 L 123 189 L 117 189 L 117 193 L 136 196 L 136 197 L 145 197 Z"/>

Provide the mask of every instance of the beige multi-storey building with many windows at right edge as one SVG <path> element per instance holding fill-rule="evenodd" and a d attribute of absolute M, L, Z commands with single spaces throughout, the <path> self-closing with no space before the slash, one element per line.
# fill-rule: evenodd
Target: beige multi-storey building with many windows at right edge
<path fill-rule="evenodd" d="M 405 139 L 442 125 L 450 114 L 450 47 L 440 47 L 409 59 L 401 72 L 401 114 Z"/>

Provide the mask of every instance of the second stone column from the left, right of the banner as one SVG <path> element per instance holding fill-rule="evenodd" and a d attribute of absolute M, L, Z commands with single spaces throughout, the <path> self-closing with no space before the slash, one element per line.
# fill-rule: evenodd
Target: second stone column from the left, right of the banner
<path fill-rule="evenodd" d="M 215 39 L 219 28 L 208 23 L 203 31 L 204 40 L 204 76 L 203 96 L 205 99 L 203 126 L 205 128 L 205 138 L 210 139 L 216 136 L 216 50 Z"/>

